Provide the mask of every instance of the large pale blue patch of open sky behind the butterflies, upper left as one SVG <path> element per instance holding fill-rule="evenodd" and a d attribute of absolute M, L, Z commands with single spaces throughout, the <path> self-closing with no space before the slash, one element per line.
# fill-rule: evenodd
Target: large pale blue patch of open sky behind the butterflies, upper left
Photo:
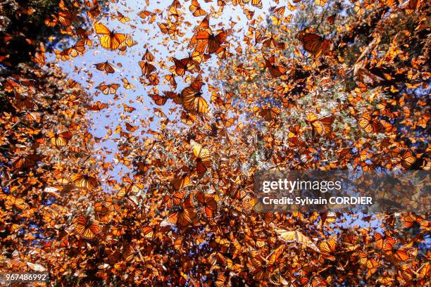
<path fill-rule="evenodd" d="M 178 39 L 172 40 L 168 37 L 168 35 L 162 34 L 159 29 L 157 23 L 165 22 L 167 18 L 168 6 L 171 1 L 149 1 L 149 6 L 145 6 L 143 1 L 122 1 L 117 4 L 110 4 L 110 9 L 108 11 L 108 15 L 100 19 L 100 22 L 106 25 L 109 29 L 115 30 L 115 32 L 121 32 L 125 34 L 130 34 L 132 39 L 134 39 L 138 44 L 132 46 L 127 49 L 125 54 L 122 54 L 120 51 L 108 51 L 99 46 L 99 40 L 96 37 L 96 34 L 92 34 L 90 39 L 92 39 L 93 47 L 87 46 L 87 52 L 84 56 L 77 56 L 76 58 L 71 58 L 67 61 L 59 61 L 58 65 L 63 68 L 65 72 L 68 73 L 68 77 L 75 79 L 77 82 L 82 84 L 82 87 L 85 87 L 87 91 L 93 96 L 93 101 L 101 101 L 108 103 L 110 108 L 102 110 L 101 112 L 90 112 L 89 119 L 92 120 L 92 134 L 97 137 L 104 137 L 109 127 L 112 131 L 115 131 L 115 128 L 120 125 L 125 130 L 125 122 L 129 122 L 131 125 L 141 125 L 140 121 L 147 121 L 149 117 L 154 116 L 153 108 L 160 108 L 156 106 L 156 104 L 152 101 L 152 99 L 147 96 L 149 92 L 151 93 L 152 87 L 144 87 L 139 83 L 139 76 L 142 75 L 141 69 L 139 68 L 138 62 L 141 60 L 142 56 L 146 51 L 146 47 L 154 54 L 156 60 L 154 61 L 154 65 L 159 72 L 161 84 L 158 85 L 157 89 L 160 93 L 162 91 L 170 91 L 170 87 L 168 84 L 163 84 L 165 82 L 164 75 L 169 74 L 168 68 L 173 65 L 173 61 L 170 57 L 175 58 L 185 58 L 188 56 L 189 49 L 187 49 L 187 44 L 189 43 L 189 38 L 192 36 L 192 30 L 196 25 L 199 25 L 204 16 L 194 17 L 192 13 L 189 11 L 189 5 L 191 1 L 181 1 L 183 7 L 179 8 L 184 16 L 184 21 L 181 25 L 181 31 L 185 33 L 183 37 L 179 37 Z M 199 1 L 201 3 L 202 8 L 205 11 L 211 11 L 211 6 L 218 10 L 217 1 L 213 1 L 210 3 L 205 3 L 204 1 Z M 251 11 L 255 11 L 254 19 L 262 17 L 266 18 L 266 14 L 269 13 L 269 9 L 271 6 L 276 6 L 273 1 L 263 1 L 263 8 L 258 9 L 249 4 L 247 4 L 247 8 Z M 156 20 L 154 23 L 148 23 L 146 20 L 137 15 L 140 11 L 156 11 L 159 9 L 161 11 L 161 15 L 156 16 Z M 116 15 L 116 11 L 120 11 L 123 15 L 130 18 L 130 22 L 120 23 L 119 20 L 112 17 L 112 15 Z M 285 15 L 287 15 L 286 12 Z M 246 15 L 242 11 L 242 8 L 239 6 L 225 6 L 223 11 L 223 15 L 219 18 L 211 17 L 210 23 L 213 30 L 220 29 L 221 27 L 228 29 L 231 27 L 230 23 L 235 22 L 235 26 L 233 26 L 235 33 L 232 35 L 233 39 L 239 39 L 239 41 L 231 41 L 231 43 L 242 43 L 241 39 L 244 33 L 247 32 L 247 23 L 249 20 L 246 19 Z M 189 23 L 189 25 L 186 25 Z M 73 43 L 71 43 L 73 44 Z M 230 51 L 234 51 L 235 46 L 230 47 Z M 49 60 L 54 60 L 55 55 L 51 54 L 49 56 Z M 108 60 L 110 63 L 113 63 L 116 70 L 115 73 L 106 75 L 104 72 L 96 70 L 94 67 L 95 63 L 101 63 Z M 121 67 L 118 67 L 118 63 L 121 64 Z M 161 65 L 165 65 L 165 68 L 161 68 Z M 216 56 L 213 56 L 211 60 L 208 60 L 206 63 L 201 65 L 202 70 L 204 70 L 203 77 L 209 77 L 208 70 L 210 68 L 218 67 Z M 90 78 L 89 75 L 92 75 Z M 187 72 L 186 75 L 189 75 Z M 196 74 L 194 75 L 196 76 Z M 135 89 L 126 90 L 123 88 L 123 82 L 121 79 L 126 77 L 129 82 L 135 85 Z M 176 77 L 177 80 L 177 92 L 182 91 L 187 86 L 184 78 Z M 113 95 L 104 95 L 101 94 L 100 91 L 96 89 L 96 87 L 105 82 L 109 84 L 111 82 L 120 84 L 120 89 L 118 89 L 116 98 L 114 100 Z M 208 80 L 211 84 L 213 83 L 211 79 Z M 214 85 L 214 84 L 213 84 Z M 205 93 L 207 91 L 208 85 L 204 86 L 204 96 L 209 103 L 209 95 Z M 154 91 L 153 91 L 154 92 Z M 137 101 L 137 99 L 142 98 L 142 101 Z M 136 108 L 132 113 L 123 112 L 123 104 L 127 104 L 127 106 L 132 106 Z M 175 103 L 168 101 L 168 103 L 163 106 L 163 112 L 168 116 L 170 120 L 173 120 L 175 117 L 179 118 L 178 111 L 174 114 L 170 114 L 169 108 L 173 108 Z M 157 129 L 158 118 L 154 116 L 154 122 L 151 123 L 151 129 Z M 141 132 L 144 132 L 142 129 L 137 129 L 134 132 L 135 135 L 139 135 Z M 148 134 L 144 134 L 142 138 L 149 136 Z M 113 133 L 111 136 L 108 136 L 107 139 L 101 141 L 101 144 L 96 147 L 99 150 L 100 154 L 106 155 L 108 161 L 113 160 L 113 155 L 115 151 L 117 151 L 115 141 L 113 139 L 119 139 L 119 135 Z M 106 151 L 112 152 L 111 154 L 106 153 Z M 111 175 L 118 179 L 120 170 L 123 167 L 121 165 L 116 165 Z"/>

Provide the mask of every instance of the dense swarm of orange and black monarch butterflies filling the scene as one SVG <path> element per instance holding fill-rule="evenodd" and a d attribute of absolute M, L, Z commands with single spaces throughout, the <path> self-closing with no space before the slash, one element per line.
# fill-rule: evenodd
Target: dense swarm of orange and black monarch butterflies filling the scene
<path fill-rule="evenodd" d="M 430 170 L 426 1 L 274 1 L 267 19 L 261 0 L 174 0 L 139 13 L 81 4 L 60 1 L 45 21 L 75 41 L 56 60 L 143 45 L 112 30 L 115 20 L 150 25 L 158 46 L 145 43 L 133 68 L 91 63 L 100 77 L 120 75 L 109 84 L 75 68 L 94 95 L 46 63 L 43 43 L 34 63 L 1 77 L 1 271 L 42 265 L 53 281 L 89 286 L 429 281 L 429 215 L 256 212 L 254 196 L 258 170 Z M 307 23 L 310 7 L 320 8 Z M 228 8 L 244 27 L 211 25 Z M 80 13 L 87 30 L 73 26 Z M 162 46 L 172 53 L 159 59 Z M 135 102 L 154 103 L 154 115 L 139 118 Z M 94 136 L 88 113 L 115 108 L 118 126 Z M 98 148 L 108 140 L 115 151 Z"/>

